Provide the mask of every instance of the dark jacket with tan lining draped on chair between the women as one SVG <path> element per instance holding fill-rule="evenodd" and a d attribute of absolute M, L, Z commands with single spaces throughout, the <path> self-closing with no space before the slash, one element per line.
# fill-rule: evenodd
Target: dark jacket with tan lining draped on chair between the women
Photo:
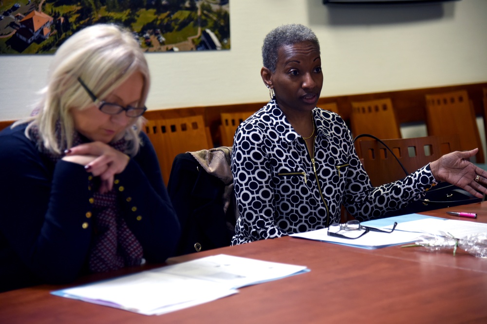
<path fill-rule="evenodd" d="M 168 192 L 182 230 L 176 255 L 230 245 L 237 218 L 230 153 L 221 147 L 174 159 Z"/>

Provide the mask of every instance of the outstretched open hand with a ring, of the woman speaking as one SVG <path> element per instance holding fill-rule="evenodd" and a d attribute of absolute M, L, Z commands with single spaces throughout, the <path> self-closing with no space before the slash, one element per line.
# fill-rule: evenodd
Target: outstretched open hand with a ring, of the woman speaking
<path fill-rule="evenodd" d="M 436 180 L 446 181 L 463 188 L 475 197 L 482 198 L 487 193 L 487 171 L 475 166 L 468 159 L 478 149 L 452 152 L 430 163 L 431 173 Z"/>

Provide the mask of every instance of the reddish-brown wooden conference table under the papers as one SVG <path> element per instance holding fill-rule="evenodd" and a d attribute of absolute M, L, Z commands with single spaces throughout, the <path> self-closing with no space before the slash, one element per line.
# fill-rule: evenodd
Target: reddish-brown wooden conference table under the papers
<path fill-rule="evenodd" d="M 478 218 L 450 217 L 446 210 L 475 212 Z M 425 214 L 487 222 L 487 202 Z M 168 263 L 215 254 L 305 265 L 311 271 L 160 316 L 50 294 L 103 277 L 94 275 L 69 286 L 0 293 L 0 323 L 487 323 L 487 259 L 464 251 L 452 256 L 451 251 L 399 246 L 364 250 L 284 237 L 179 256 Z"/>

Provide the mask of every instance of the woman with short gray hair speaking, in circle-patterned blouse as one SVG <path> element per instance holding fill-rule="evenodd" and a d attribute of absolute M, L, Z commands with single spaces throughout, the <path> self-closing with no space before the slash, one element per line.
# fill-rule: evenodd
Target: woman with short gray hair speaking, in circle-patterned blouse
<path fill-rule="evenodd" d="M 468 162 L 477 149 L 446 154 L 404 179 L 373 187 L 345 122 L 316 107 L 323 74 L 311 29 L 274 29 L 264 39 L 262 60 L 271 100 L 239 126 L 233 143 L 240 217 L 232 245 L 329 228 L 340 222 L 342 205 L 358 221 L 380 218 L 439 181 L 479 198 L 487 192 L 487 172 Z"/>

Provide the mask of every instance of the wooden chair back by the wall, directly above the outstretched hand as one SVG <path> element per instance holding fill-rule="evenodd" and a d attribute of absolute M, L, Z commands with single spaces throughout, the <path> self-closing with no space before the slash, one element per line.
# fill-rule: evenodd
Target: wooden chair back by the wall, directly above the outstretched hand
<path fill-rule="evenodd" d="M 473 106 L 466 90 L 426 95 L 428 135 L 458 134 L 460 150 L 478 148 L 477 163 L 484 163 L 484 149 Z"/>

